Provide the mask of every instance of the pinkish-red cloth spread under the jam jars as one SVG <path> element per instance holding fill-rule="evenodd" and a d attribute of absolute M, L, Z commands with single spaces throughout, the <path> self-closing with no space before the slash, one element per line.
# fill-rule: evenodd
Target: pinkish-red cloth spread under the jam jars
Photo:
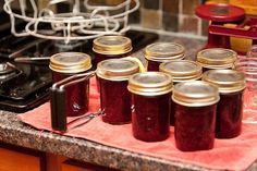
<path fill-rule="evenodd" d="M 98 109 L 99 94 L 96 90 L 96 82 L 93 80 L 90 83 L 89 112 L 95 112 Z M 52 132 L 49 102 L 17 117 L 22 122 L 38 130 Z M 192 163 L 209 169 L 244 170 L 257 160 L 256 124 L 243 124 L 242 134 L 235 138 L 216 139 L 215 148 L 211 150 L 193 152 L 183 152 L 175 148 L 174 129 L 172 126 L 170 127 L 170 137 L 158 143 L 145 143 L 135 139 L 132 135 L 131 126 L 131 124 L 110 125 L 102 122 L 100 117 L 98 117 L 87 124 L 63 133 L 63 135 L 85 138 L 138 154 Z"/>

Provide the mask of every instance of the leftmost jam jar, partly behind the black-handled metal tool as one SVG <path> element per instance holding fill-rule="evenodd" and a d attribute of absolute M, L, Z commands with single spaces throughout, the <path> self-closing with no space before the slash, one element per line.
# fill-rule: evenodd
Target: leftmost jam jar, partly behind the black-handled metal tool
<path fill-rule="evenodd" d="M 50 58 L 49 68 L 52 71 L 53 87 L 62 86 L 64 111 L 66 117 L 84 114 L 88 110 L 89 80 L 82 82 L 65 83 L 65 78 L 87 72 L 91 68 L 90 57 L 81 52 L 61 52 Z M 62 83 L 63 82 L 63 83 Z M 58 102 L 52 101 L 52 102 Z"/>

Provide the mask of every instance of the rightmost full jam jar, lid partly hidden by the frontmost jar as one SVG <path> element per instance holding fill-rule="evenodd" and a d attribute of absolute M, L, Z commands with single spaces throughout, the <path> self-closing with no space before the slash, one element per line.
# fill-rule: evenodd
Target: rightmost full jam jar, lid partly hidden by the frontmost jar
<path fill-rule="evenodd" d="M 203 81 L 218 86 L 220 101 L 217 107 L 216 137 L 232 138 L 241 133 L 243 91 L 246 86 L 243 73 L 234 70 L 210 70 Z"/>

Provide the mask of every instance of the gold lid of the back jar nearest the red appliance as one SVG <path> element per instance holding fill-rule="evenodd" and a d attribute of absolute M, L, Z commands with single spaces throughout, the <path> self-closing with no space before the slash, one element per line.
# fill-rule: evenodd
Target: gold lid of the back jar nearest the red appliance
<path fill-rule="evenodd" d="M 233 62 L 237 59 L 237 53 L 231 49 L 210 48 L 197 53 L 197 62 L 203 68 L 224 69 L 232 68 Z"/>

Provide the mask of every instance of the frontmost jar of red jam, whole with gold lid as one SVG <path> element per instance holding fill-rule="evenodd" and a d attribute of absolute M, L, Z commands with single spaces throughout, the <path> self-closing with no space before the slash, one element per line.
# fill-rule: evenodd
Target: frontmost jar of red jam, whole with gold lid
<path fill-rule="evenodd" d="M 175 145 L 182 151 L 213 148 L 218 87 L 203 82 L 178 83 L 175 102 Z"/>

